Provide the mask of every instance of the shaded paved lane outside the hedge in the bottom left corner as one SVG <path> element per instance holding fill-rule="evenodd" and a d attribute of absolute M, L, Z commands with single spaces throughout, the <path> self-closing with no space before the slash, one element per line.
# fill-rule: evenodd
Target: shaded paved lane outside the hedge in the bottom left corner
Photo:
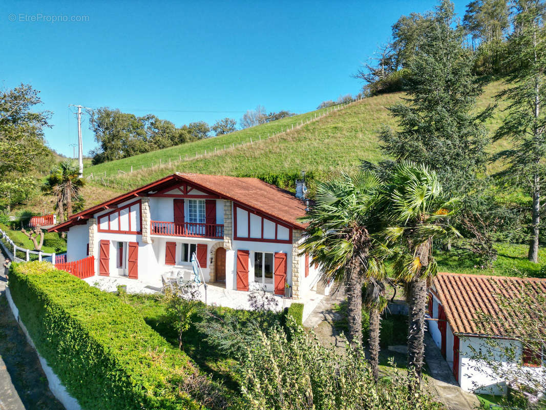
<path fill-rule="evenodd" d="M 3 264 L 0 253 L 0 410 L 64 410 L 9 309 Z"/>

